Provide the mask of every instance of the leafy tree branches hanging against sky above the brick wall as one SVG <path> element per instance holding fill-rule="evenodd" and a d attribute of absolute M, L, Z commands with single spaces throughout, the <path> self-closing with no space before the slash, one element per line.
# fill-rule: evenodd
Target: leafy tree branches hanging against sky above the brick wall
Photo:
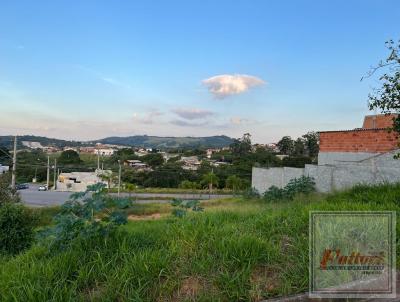
<path fill-rule="evenodd" d="M 369 109 L 380 109 L 382 113 L 400 111 L 400 40 L 386 42 L 389 55 L 373 68 L 368 76 L 381 72 L 381 87 L 369 94 Z M 400 115 L 394 118 L 392 130 L 400 133 Z"/>

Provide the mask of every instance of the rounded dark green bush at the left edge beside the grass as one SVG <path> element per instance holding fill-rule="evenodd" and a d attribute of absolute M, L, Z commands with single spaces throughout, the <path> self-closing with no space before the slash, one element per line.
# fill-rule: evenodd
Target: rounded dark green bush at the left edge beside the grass
<path fill-rule="evenodd" d="M 0 253 L 15 255 L 31 246 L 35 219 L 31 212 L 15 203 L 0 205 Z"/>

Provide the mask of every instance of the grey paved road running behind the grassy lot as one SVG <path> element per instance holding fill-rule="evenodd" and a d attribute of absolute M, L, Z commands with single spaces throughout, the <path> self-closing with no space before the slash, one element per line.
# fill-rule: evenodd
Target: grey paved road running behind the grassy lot
<path fill-rule="evenodd" d="M 38 185 L 31 184 L 29 189 L 19 191 L 22 202 L 30 206 L 56 206 L 63 204 L 71 192 L 56 192 L 56 191 L 38 191 Z M 112 194 L 116 195 L 116 194 Z M 121 196 L 128 196 L 128 193 L 121 193 Z M 231 197 L 232 195 L 210 195 L 210 194 L 175 194 L 175 193 L 132 193 L 132 197 L 136 197 L 137 203 L 167 203 L 170 200 L 157 200 L 157 197 L 163 198 L 182 198 L 185 200 L 190 199 L 215 199 L 223 197 Z M 142 199 L 141 199 L 142 198 Z M 145 199 L 143 199 L 145 198 Z M 155 198 L 151 200 L 151 198 Z"/>

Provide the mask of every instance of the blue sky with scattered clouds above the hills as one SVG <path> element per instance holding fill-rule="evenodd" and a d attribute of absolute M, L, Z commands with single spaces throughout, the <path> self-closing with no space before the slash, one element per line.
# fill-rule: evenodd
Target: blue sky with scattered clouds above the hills
<path fill-rule="evenodd" d="M 362 125 L 400 1 L 0 3 L 0 135 L 257 143 Z M 373 112 L 372 112 L 373 113 Z"/>

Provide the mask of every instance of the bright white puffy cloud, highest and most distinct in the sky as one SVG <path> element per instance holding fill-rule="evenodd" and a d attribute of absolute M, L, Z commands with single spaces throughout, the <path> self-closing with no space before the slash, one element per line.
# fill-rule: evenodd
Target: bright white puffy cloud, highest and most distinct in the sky
<path fill-rule="evenodd" d="M 222 74 L 202 81 L 217 99 L 223 99 L 230 95 L 246 92 L 252 87 L 260 86 L 265 82 L 255 76 L 245 74 Z"/>

